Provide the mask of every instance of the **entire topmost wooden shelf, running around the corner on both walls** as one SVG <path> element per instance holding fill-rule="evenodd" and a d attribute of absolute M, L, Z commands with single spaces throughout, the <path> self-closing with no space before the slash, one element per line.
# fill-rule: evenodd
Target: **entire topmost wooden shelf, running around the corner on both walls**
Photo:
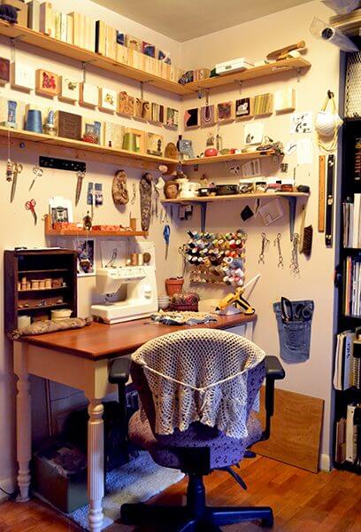
<path fill-rule="evenodd" d="M 133 66 L 123 65 L 114 59 L 106 58 L 94 51 L 87 51 L 73 44 L 63 43 L 48 35 L 38 33 L 28 27 L 19 25 L 11 25 L 4 20 L 0 21 L 0 35 L 16 38 L 21 43 L 31 44 L 42 48 L 46 51 L 58 53 L 66 58 L 75 59 L 81 62 L 89 62 L 92 66 L 101 68 L 108 72 L 123 75 L 138 82 L 146 82 L 157 87 L 157 89 L 167 90 L 180 96 L 193 94 L 199 89 L 213 89 L 234 82 L 241 82 L 244 80 L 256 79 L 267 75 L 279 74 L 282 72 L 289 72 L 311 66 L 311 64 L 302 58 L 284 59 L 271 63 L 270 65 L 256 66 L 244 72 L 237 74 L 227 74 L 214 78 L 208 78 L 200 82 L 187 83 L 181 85 L 178 82 L 171 82 L 155 74 L 143 72 Z"/>

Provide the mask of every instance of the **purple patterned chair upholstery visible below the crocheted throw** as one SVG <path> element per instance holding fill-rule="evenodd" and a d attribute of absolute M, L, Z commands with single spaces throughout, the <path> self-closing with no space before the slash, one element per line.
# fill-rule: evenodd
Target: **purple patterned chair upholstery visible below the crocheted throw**
<path fill-rule="evenodd" d="M 134 413 L 129 422 L 129 437 L 142 449 L 148 450 L 150 456 L 159 465 L 180 468 L 180 460 L 171 450 L 172 447 L 209 447 L 211 451 L 211 469 L 218 469 L 227 465 L 237 464 L 242 460 L 244 451 L 258 442 L 262 435 L 262 427 L 251 412 L 247 423 L 249 435 L 241 440 L 230 438 L 220 432 L 217 427 L 204 426 L 193 423 L 187 431 L 181 433 L 178 429 L 169 436 L 157 435 L 151 431 L 150 423 L 142 421 L 140 411 Z"/>

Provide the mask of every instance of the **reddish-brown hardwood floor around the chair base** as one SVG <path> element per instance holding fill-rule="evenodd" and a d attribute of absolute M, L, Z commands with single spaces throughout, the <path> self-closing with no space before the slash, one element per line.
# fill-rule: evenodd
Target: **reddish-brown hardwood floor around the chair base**
<path fill-rule="evenodd" d="M 282 532 L 361 532 L 361 479 L 340 471 L 308 473 L 270 458 L 242 463 L 243 491 L 229 474 L 212 473 L 206 479 L 210 505 L 270 505 L 275 515 L 273 530 Z M 184 499 L 185 481 L 153 499 L 178 504 Z M 256 523 L 223 528 L 225 532 L 265 530 Z M 0 532 L 79 531 L 65 518 L 39 501 L 0 505 Z M 114 524 L 107 532 L 131 532 L 134 528 Z M 146 528 L 150 531 L 150 528 Z M 145 532 L 145 529 L 142 529 Z"/>

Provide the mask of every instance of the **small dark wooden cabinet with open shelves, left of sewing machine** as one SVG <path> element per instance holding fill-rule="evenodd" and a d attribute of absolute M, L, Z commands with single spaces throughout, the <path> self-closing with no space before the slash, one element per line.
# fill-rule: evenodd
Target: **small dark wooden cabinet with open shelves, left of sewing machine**
<path fill-rule="evenodd" d="M 18 317 L 50 319 L 51 309 L 77 315 L 76 251 L 69 249 L 4 252 L 4 328 L 12 332 Z"/>

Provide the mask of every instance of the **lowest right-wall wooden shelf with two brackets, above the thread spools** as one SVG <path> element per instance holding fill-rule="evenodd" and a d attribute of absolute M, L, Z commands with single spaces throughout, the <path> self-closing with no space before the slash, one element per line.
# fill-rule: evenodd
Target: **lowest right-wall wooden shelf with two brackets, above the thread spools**
<path fill-rule="evenodd" d="M 164 205 L 167 204 L 194 204 L 201 207 L 201 231 L 205 231 L 205 222 L 207 217 L 207 206 L 209 203 L 217 203 L 219 201 L 240 201 L 240 200 L 250 200 L 252 199 L 264 199 L 269 200 L 274 198 L 285 198 L 288 200 L 289 206 L 289 235 L 292 240 L 294 228 L 295 228 L 295 217 L 296 217 L 296 201 L 298 198 L 303 198 L 308 200 L 310 194 L 305 192 L 263 192 L 263 193 L 250 193 L 250 194 L 229 194 L 225 196 L 205 196 L 205 197 L 196 197 L 196 198 L 176 198 L 175 200 L 162 200 L 161 203 Z"/>

